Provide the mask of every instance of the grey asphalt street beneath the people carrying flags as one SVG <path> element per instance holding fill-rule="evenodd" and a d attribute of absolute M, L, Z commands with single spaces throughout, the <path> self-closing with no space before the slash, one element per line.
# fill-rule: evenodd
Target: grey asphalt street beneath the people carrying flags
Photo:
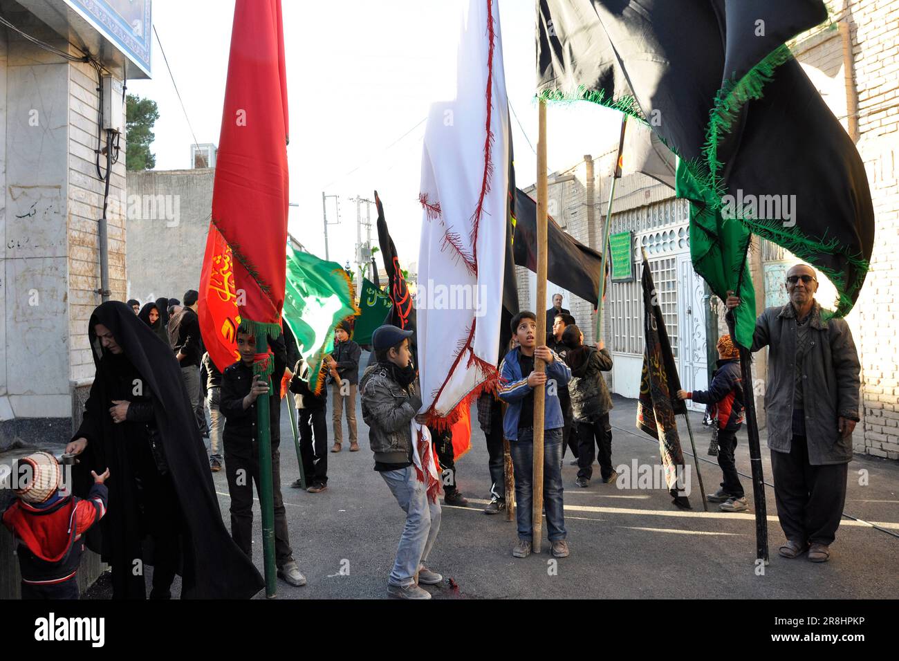
<path fill-rule="evenodd" d="M 362 364 L 365 364 L 363 356 Z M 368 599 L 386 596 L 387 575 L 405 514 L 387 485 L 373 470 L 368 427 L 357 404 L 361 450 L 328 453 L 328 488 L 310 494 L 289 485 L 298 478 L 296 452 L 289 428 L 287 400 L 281 405 L 281 485 L 287 507 L 290 543 L 307 585 L 278 581 L 279 599 Z M 636 400 L 614 397 L 611 413 L 612 461 L 615 466 L 658 464 L 658 444 L 636 430 Z M 457 480 L 470 506 L 443 507 L 440 536 L 428 565 L 444 576 L 444 584 L 428 587 L 435 598 L 895 598 L 899 573 L 895 557 L 899 539 L 868 523 L 845 518 L 832 545 L 830 562 L 815 564 L 805 556 L 780 558 L 783 541 L 774 491 L 765 487 L 770 564 L 755 562 L 752 483 L 742 478 L 750 510 L 739 514 L 702 511 L 697 480 L 691 480 L 693 511 L 672 505 L 662 485 L 619 488 L 602 484 L 599 467 L 587 488 L 575 487 L 577 468 L 565 457 L 565 527 L 569 558 L 547 553 L 512 558 L 515 524 L 505 515 L 483 513 L 490 489 L 484 434 L 472 410 L 471 450 L 458 460 Z M 691 414 L 700 469 L 706 491 L 720 482 L 716 460 L 706 454 L 709 429 L 702 415 Z M 328 412 L 330 434 L 330 410 Z M 345 422 L 344 422 L 345 425 Z M 681 418 L 685 452 L 690 442 Z M 745 427 L 738 435 L 737 468 L 750 473 Z M 330 442 L 329 442 L 330 444 Z M 769 452 L 762 457 L 770 482 Z M 688 457 L 691 463 L 692 458 Z M 709 462 L 710 461 L 710 462 Z M 899 535 L 899 465 L 895 461 L 857 458 L 850 463 L 845 512 Z M 219 505 L 229 524 L 225 471 L 213 474 Z M 442 499 L 441 499 L 442 502 Z M 258 502 L 254 515 L 254 561 L 262 571 L 262 530 Z M 149 580 L 149 576 L 147 576 Z M 174 585 L 177 594 L 179 585 Z M 97 589 L 93 595 L 104 595 Z M 263 594 L 259 598 L 264 598 Z"/>

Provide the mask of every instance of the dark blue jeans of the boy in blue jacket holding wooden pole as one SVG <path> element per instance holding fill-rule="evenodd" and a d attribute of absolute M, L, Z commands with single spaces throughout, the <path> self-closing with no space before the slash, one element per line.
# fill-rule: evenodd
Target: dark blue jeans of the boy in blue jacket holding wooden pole
<path fill-rule="evenodd" d="M 509 447 L 515 467 L 515 518 L 518 521 L 518 536 L 522 540 L 532 541 L 534 535 L 530 510 L 534 468 L 533 428 L 519 429 L 518 441 L 510 442 Z M 564 540 L 567 536 L 562 491 L 562 429 L 547 429 L 543 432 L 543 503 L 547 507 L 549 541 Z"/>

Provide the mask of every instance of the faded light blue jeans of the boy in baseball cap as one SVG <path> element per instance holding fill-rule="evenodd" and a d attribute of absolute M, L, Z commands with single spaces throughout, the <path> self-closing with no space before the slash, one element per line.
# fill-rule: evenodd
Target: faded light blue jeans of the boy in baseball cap
<path fill-rule="evenodd" d="M 427 562 L 428 554 L 441 529 L 441 503 L 431 503 L 419 482 L 414 466 L 401 470 L 385 470 L 381 477 L 405 512 L 405 528 L 396 549 L 396 562 L 390 572 L 391 585 L 412 585 L 418 568 Z"/>

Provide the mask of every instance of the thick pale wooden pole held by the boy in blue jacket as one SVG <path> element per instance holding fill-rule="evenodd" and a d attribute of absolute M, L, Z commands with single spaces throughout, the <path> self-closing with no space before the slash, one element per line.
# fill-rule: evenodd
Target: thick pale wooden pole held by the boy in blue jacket
<path fill-rule="evenodd" d="M 539 102 L 537 138 L 537 346 L 547 344 L 547 103 Z M 546 364 L 534 360 L 534 371 L 546 371 Z M 534 389 L 533 537 L 531 548 L 540 552 L 543 542 L 543 421 L 546 386 Z"/>

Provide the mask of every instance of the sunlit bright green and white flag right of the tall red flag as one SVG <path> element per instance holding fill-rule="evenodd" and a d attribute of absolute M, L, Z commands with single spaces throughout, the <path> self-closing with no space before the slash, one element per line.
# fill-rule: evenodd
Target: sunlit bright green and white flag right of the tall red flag
<path fill-rule="evenodd" d="M 359 314 L 352 299 L 352 285 L 343 266 L 325 262 L 316 255 L 287 249 L 287 290 L 284 319 L 297 338 L 299 353 L 307 366 L 300 378 L 309 389 L 320 392 L 324 385 L 322 363 L 334 351 L 334 326 Z M 292 368 L 293 365 L 290 365 Z"/>

